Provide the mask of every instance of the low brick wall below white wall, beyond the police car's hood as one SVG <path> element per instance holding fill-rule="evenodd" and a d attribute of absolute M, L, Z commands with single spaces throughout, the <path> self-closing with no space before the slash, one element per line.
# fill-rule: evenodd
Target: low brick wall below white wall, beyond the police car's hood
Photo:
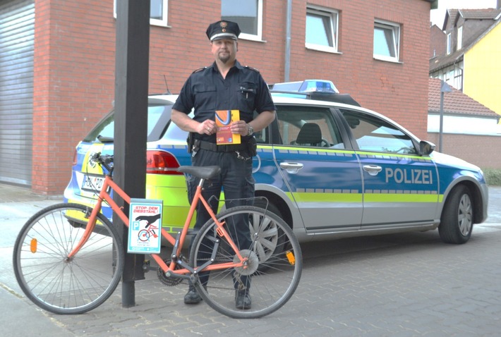
<path fill-rule="evenodd" d="M 427 140 L 437 145 L 437 151 L 439 138 L 438 133 L 428 133 Z M 445 133 L 442 142 L 445 154 L 469 161 L 481 169 L 501 169 L 501 137 Z"/>

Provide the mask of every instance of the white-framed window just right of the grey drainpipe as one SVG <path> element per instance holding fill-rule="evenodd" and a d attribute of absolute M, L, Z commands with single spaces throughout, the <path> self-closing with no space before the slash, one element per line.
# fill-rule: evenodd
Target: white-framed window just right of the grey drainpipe
<path fill-rule="evenodd" d="M 306 48 L 337 51 L 337 11 L 306 8 Z"/>

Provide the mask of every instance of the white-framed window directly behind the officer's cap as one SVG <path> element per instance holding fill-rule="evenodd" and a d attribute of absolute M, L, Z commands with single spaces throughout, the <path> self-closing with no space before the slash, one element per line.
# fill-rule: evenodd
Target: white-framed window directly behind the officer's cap
<path fill-rule="evenodd" d="M 239 24 L 239 38 L 262 39 L 262 0 L 221 0 L 221 19 Z"/>

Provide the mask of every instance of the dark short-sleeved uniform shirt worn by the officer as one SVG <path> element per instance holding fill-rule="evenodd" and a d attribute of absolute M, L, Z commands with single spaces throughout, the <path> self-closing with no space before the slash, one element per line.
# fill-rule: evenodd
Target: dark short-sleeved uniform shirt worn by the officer
<path fill-rule="evenodd" d="M 223 78 L 216 63 L 193 72 L 183 85 L 173 109 L 189 114 L 195 121 L 215 120 L 216 110 L 240 110 L 240 119 L 252 121 L 253 111 L 274 111 L 275 107 L 265 80 L 253 68 L 239 61 Z M 193 135 L 196 139 L 216 142 L 216 135 Z"/>

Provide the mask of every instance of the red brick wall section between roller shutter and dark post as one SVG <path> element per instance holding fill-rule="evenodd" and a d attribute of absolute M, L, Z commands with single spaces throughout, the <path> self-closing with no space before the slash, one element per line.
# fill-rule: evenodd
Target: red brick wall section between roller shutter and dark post
<path fill-rule="evenodd" d="M 35 0 L 32 190 L 61 194 L 73 150 L 111 108 L 110 1 Z"/>

